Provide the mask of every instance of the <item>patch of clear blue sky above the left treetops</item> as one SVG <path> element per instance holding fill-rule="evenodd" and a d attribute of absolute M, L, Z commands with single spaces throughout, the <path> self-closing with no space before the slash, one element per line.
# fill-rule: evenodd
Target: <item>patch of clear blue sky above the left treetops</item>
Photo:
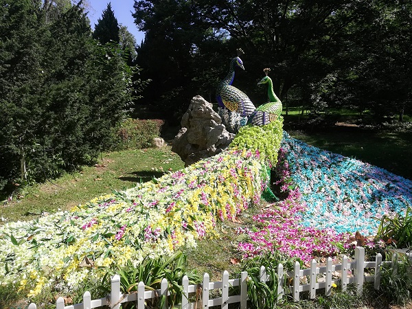
<path fill-rule="evenodd" d="M 136 43 L 140 45 L 141 40 L 144 38 L 144 33 L 139 32 L 137 26 L 133 23 L 134 19 L 131 12 L 134 12 L 134 0 L 89 0 L 87 2 L 90 4 L 87 16 L 89 16 L 92 29 L 94 29 L 95 23 L 98 23 L 98 19 L 102 18 L 102 13 L 103 10 L 107 8 L 107 3 L 111 2 L 111 7 L 113 12 L 115 12 L 117 22 L 125 25 L 128 32 L 135 36 Z"/>

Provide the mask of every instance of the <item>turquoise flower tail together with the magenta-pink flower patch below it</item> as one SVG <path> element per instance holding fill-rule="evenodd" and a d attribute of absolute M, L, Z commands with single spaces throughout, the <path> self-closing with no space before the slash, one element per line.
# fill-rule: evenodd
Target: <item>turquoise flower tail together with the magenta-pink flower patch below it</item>
<path fill-rule="evenodd" d="M 354 234 L 374 236 L 382 216 L 412 205 L 412 181 L 369 163 L 309 146 L 286 132 L 279 151 L 278 184 L 284 201 L 254 216 L 264 227 L 239 229 L 245 257 L 280 251 L 310 262 L 354 247 Z M 375 247 L 373 239 L 365 245 Z"/>

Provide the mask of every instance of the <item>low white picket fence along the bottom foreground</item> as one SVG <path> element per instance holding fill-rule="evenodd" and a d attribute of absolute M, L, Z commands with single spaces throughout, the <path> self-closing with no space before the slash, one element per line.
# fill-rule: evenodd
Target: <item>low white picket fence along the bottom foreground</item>
<path fill-rule="evenodd" d="M 409 261 L 412 262 L 412 254 L 409 254 Z M 361 293 L 365 282 L 374 282 L 374 288 L 378 289 L 380 285 L 380 269 L 382 264 L 391 263 L 382 261 L 382 255 L 376 255 L 374 262 L 365 262 L 365 249 L 356 247 L 353 261 L 349 261 L 346 256 L 343 257 L 341 264 L 332 264 L 332 258 L 328 258 L 325 266 L 318 266 L 315 260 L 312 261 L 310 268 L 301 269 L 298 262 L 295 263 L 293 271 L 284 272 L 282 264 L 277 266 L 278 275 L 278 299 L 282 299 L 286 294 L 293 294 L 293 300 L 299 301 L 299 295 L 308 291 L 311 299 L 316 297 L 317 291 L 321 290 L 325 295 L 332 293 L 332 288 L 346 290 L 348 284 L 355 284 L 358 293 Z M 393 263 L 393 260 L 392 260 Z M 365 269 L 371 269 L 365 272 Z M 240 278 L 229 279 L 229 273 L 222 273 L 222 281 L 209 282 L 209 275 L 203 275 L 203 283 L 198 285 L 189 285 L 189 279 L 183 277 L 183 296 L 178 308 L 181 309 L 201 309 L 212 306 L 220 306 L 227 309 L 229 304 L 239 304 L 240 309 L 247 309 L 247 279 L 248 273 L 242 272 Z M 260 281 L 268 282 L 271 278 L 266 275 L 264 266 L 260 268 Z M 286 284 L 288 282 L 288 284 Z M 229 288 L 240 286 L 238 295 L 229 296 Z M 213 292 L 212 292 L 213 291 Z M 138 309 L 145 308 L 145 301 L 155 299 L 161 295 L 168 295 L 168 281 L 163 279 L 161 288 L 157 291 L 145 290 L 143 282 L 139 283 L 137 292 L 123 295 L 120 292 L 120 277 L 115 275 L 111 279 L 111 293 L 108 297 L 101 299 L 91 299 L 89 292 L 84 293 L 83 302 L 65 306 L 65 299 L 59 297 L 56 301 L 56 309 L 92 309 L 100 306 L 107 306 L 111 309 L 120 309 L 122 304 L 133 302 Z M 198 295 L 198 299 L 194 297 Z M 213 295 L 218 295 L 216 298 Z M 190 300 L 196 299 L 196 301 Z M 162 309 L 168 308 L 165 303 Z M 35 304 L 30 304 L 28 309 L 37 309 Z"/>

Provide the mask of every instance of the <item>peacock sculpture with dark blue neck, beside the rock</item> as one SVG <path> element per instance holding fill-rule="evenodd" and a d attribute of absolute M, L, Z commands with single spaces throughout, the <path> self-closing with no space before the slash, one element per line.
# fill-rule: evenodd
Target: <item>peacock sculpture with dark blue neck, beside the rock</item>
<path fill-rule="evenodd" d="M 242 60 L 240 59 L 242 54 L 243 51 L 239 48 L 238 56 L 231 59 L 229 73 L 227 73 L 226 78 L 218 84 L 218 88 L 216 89 L 216 100 L 218 100 L 220 107 L 225 107 L 229 109 L 229 111 L 236 111 L 242 117 L 249 117 L 253 111 L 255 111 L 256 107 L 245 93 L 231 85 L 235 78 L 236 67 L 244 70 Z"/>

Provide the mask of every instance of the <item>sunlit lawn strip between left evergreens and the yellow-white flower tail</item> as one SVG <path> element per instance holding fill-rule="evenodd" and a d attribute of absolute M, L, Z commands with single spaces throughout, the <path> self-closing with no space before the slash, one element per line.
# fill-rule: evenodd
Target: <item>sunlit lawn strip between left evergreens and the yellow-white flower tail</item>
<path fill-rule="evenodd" d="M 179 156 L 170 151 L 170 146 L 106 152 L 95 166 L 16 192 L 11 202 L 6 200 L 0 205 L 0 217 L 7 218 L 0 220 L 0 225 L 31 220 L 42 212 L 71 209 L 101 194 L 134 187 L 169 170 L 180 170 L 183 165 Z"/>

